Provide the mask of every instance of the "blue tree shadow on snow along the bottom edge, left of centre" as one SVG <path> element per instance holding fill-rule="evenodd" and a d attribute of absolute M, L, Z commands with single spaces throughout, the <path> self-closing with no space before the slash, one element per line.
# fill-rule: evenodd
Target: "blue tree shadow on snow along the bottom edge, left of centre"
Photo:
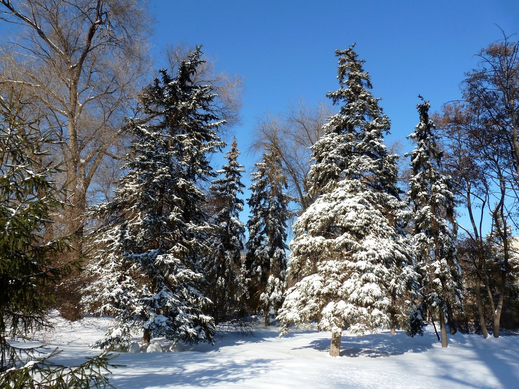
<path fill-rule="evenodd" d="M 150 358 L 147 362 L 151 366 L 147 366 L 146 363 L 142 365 L 144 361 L 140 360 L 138 370 L 130 371 L 127 376 L 124 372 L 117 372 L 119 374 L 111 378 L 111 384 L 119 388 L 132 389 L 144 389 L 149 385 L 168 389 L 186 386 L 225 387 L 226 384 L 247 381 L 265 374 L 267 370 L 276 369 L 275 361 L 272 359 L 218 360 L 214 356 L 204 357 L 206 354 L 203 353 L 180 354 L 181 358 L 168 357 L 171 354 Z"/>

